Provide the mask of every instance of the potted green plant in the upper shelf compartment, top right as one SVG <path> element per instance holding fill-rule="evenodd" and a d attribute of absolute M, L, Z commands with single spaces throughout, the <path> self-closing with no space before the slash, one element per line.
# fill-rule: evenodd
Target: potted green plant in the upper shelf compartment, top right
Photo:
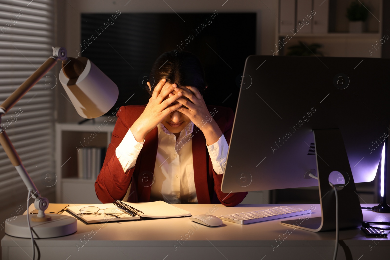
<path fill-rule="evenodd" d="M 367 20 L 369 8 L 358 0 L 351 2 L 347 8 L 350 33 L 362 33 L 364 22 Z"/>

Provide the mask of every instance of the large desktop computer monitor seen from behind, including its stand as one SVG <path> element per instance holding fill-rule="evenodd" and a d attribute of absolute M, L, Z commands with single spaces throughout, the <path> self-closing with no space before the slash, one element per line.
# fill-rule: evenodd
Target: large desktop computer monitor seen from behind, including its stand
<path fill-rule="evenodd" d="M 355 182 L 372 181 L 378 170 L 390 122 L 389 65 L 383 58 L 249 56 L 222 191 L 318 185 L 322 217 L 300 228 L 323 231 L 335 229 L 330 181 L 339 184 L 340 228 L 361 225 Z"/>

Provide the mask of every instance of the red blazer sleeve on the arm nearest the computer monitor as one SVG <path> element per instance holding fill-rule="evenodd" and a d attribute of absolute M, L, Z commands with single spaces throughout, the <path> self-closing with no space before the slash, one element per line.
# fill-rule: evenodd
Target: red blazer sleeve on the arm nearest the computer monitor
<path fill-rule="evenodd" d="M 218 112 L 217 112 L 218 113 Z M 233 122 L 234 122 L 234 113 L 233 111 L 229 108 L 226 111 L 226 116 L 217 119 L 222 120 L 225 122 L 225 127 L 223 127 L 222 123 L 220 122 L 218 125 L 221 128 L 221 131 L 223 135 L 225 136 L 225 139 L 227 143 L 230 145 L 230 136 L 232 135 L 232 129 L 233 129 Z M 218 122 L 217 122 L 218 123 Z M 225 166 L 226 167 L 226 166 Z M 210 169 L 211 168 L 211 169 Z M 218 200 L 225 206 L 227 207 L 234 207 L 241 203 L 245 196 L 248 194 L 247 191 L 245 192 L 236 192 L 236 193 L 223 193 L 221 191 L 221 185 L 222 185 L 222 178 L 223 174 L 217 174 L 212 166 L 211 159 L 209 159 L 209 170 L 213 172 L 213 177 L 214 177 L 214 191 L 218 197 Z"/>

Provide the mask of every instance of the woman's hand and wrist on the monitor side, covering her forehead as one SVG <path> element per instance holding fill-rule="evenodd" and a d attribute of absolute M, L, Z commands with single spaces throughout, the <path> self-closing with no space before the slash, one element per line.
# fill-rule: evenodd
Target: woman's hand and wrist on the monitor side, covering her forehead
<path fill-rule="evenodd" d="M 218 141 L 222 136 L 222 131 L 215 120 L 213 120 L 213 117 L 211 117 L 199 90 L 195 87 L 186 86 L 183 88 L 175 88 L 175 91 L 183 94 L 182 97 L 176 100 L 180 104 L 183 104 L 183 106 L 176 110 L 186 115 L 195 126 L 200 128 L 206 138 L 207 145 Z M 176 95 L 171 93 L 169 96 L 174 97 Z"/>

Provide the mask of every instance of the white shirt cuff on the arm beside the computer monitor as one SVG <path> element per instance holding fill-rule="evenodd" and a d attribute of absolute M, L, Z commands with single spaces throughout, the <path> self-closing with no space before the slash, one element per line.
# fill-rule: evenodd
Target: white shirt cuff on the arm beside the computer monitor
<path fill-rule="evenodd" d="M 225 139 L 225 136 L 222 134 L 218 141 L 212 145 L 207 145 L 209 150 L 209 155 L 211 158 L 211 163 L 213 163 L 213 169 L 216 174 L 222 174 L 225 171 L 227 150 L 229 150 L 229 145 Z"/>

